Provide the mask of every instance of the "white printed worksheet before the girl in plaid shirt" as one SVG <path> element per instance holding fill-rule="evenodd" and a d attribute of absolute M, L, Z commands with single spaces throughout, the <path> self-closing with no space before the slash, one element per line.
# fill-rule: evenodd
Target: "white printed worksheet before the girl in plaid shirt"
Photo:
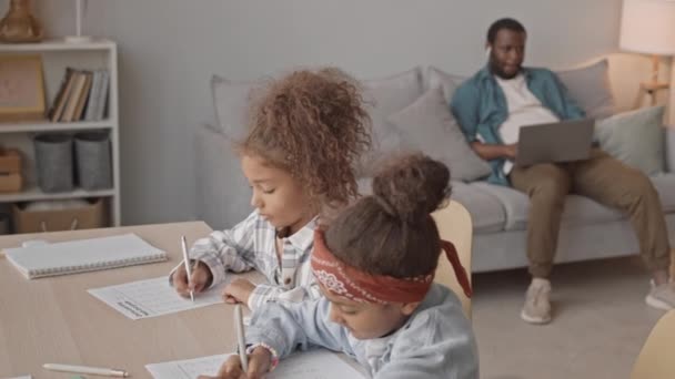
<path fill-rule="evenodd" d="M 180 296 L 169 285 L 168 276 L 89 289 L 88 293 L 122 315 L 138 320 L 223 303 L 221 294 L 228 283 L 230 280 L 199 294 L 194 297 L 194 303 Z"/>

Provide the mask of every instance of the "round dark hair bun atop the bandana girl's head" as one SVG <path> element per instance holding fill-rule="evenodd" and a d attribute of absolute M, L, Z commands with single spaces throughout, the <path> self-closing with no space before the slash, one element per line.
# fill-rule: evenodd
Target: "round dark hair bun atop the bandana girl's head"
<path fill-rule="evenodd" d="M 436 211 L 450 195 L 450 170 L 423 154 L 399 157 L 373 180 L 373 196 L 386 213 L 415 222 Z"/>

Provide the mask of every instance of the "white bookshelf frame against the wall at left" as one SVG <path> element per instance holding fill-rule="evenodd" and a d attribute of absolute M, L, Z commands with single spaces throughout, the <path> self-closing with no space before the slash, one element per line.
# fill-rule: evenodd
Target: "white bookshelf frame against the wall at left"
<path fill-rule="evenodd" d="M 1 44 L 0 54 L 39 54 L 42 58 L 47 107 L 54 101 L 66 68 L 84 70 L 105 69 L 110 73 L 108 94 L 108 117 L 95 122 L 18 122 L 0 123 L 0 144 L 16 147 L 22 152 L 24 188 L 18 193 L 0 193 L 0 203 L 28 202 L 40 199 L 66 199 L 103 197 L 108 202 L 110 225 L 119 226 L 120 207 L 120 139 L 119 139 L 119 90 L 118 90 L 118 51 L 117 44 L 107 39 L 94 39 L 90 42 L 70 43 L 62 39 L 46 40 L 40 43 Z M 110 133 L 112 163 L 112 187 L 102 191 L 75 188 L 66 193 L 44 193 L 37 186 L 36 162 L 32 137 L 38 133 L 81 132 L 107 130 Z"/>

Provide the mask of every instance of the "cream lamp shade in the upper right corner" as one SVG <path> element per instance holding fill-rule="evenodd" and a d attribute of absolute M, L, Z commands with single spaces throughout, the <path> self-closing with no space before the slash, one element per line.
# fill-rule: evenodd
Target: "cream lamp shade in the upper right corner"
<path fill-rule="evenodd" d="M 675 55 L 675 0 L 624 0 L 622 50 Z"/>

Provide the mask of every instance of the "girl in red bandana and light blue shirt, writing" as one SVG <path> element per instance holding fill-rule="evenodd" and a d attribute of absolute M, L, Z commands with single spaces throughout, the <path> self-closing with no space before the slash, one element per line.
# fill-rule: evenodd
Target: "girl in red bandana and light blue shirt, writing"
<path fill-rule="evenodd" d="M 456 250 L 431 216 L 446 199 L 449 181 L 447 167 L 424 155 L 393 161 L 375 176 L 372 196 L 314 232 L 311 267 L 325 297 L 254 311 L 246 372 L 233 355 L 218 378 L 261 378 L 279 359 L 315 347 L 346 354 L 373 378 L 478 378 L 462 304 L 433 284 L 443 249 L 471 296 Z"/>

